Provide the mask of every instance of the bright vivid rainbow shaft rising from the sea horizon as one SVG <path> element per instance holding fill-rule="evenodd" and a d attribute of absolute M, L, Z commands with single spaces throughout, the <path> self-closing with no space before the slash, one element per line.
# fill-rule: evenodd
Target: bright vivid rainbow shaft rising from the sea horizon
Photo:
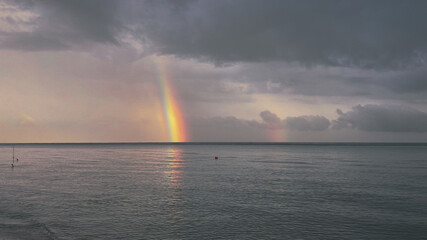
<path fill-rule="evenodd" d="M 186 142 L 187 132 L 182 117 L 182 110 L 171 81 L 170 73 L 167 69 L 167 59 L 165 57 L 155 57 L 157 66 L 158 82 L 163 105 L 163 121 L 169 134 L 171 142 Z"/>

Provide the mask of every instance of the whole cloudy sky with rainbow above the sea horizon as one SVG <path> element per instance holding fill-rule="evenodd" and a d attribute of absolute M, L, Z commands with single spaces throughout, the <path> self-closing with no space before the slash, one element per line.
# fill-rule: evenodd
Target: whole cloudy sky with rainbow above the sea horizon
<path fill-rule="evenodd" d="M 427 2 L 0 0 L 0 142 L 427 142 Z"/>

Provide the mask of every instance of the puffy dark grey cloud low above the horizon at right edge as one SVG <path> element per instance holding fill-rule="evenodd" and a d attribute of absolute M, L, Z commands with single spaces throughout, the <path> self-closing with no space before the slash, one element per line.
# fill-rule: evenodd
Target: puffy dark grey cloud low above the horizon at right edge
<path fill-rule="evenodd" d="M 353 128 L 378 132 L 427 132 L 427 113 L 388 105 L 357 105 L 351 111 L 337 110 L 334 129 Z"/>

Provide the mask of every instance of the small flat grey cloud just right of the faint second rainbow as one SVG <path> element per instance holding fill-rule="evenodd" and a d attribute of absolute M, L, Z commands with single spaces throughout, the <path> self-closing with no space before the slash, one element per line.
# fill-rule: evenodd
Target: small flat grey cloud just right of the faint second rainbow
<path fill-rule="evenodd" d="M 323 116 L 287 117 L 284 122 L 288 129 L 298 131 L 324 131 L 331 125 Z"/>

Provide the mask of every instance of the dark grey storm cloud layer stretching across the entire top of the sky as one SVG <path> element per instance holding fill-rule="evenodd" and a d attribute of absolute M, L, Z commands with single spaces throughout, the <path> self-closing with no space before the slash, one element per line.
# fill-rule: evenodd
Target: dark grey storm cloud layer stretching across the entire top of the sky
<path fill-rule="evenodd" d="M 32 33 L 51 39 L 53 49 L 86 41 L 119 44 L 121 34 L 132 33 L 160 53 L 217 63 L 391 67 L 426 60 L 425 1 L 12 3 L 40 14 Z M 7 36 L 3 47 L 18 48 L 10 43 L 22 37 L 28 36 Z"/>

